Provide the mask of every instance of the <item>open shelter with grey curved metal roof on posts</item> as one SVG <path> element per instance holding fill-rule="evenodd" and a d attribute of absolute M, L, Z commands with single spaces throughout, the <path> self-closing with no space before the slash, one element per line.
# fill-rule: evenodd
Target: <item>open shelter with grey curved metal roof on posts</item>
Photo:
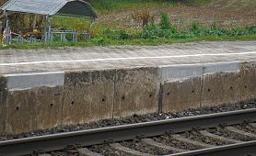
<path fill-rule="evenodd" d="M 44 41 L 46 43 L 53 40 L 52 16 L 90 17 L 92 22 L 98 17 L 93 7 L 82 0 L 9 0 L 5 5 L 1 6 L 0 9 L 6 14 L 6 44 L 9 44 L 11 41 L 9 20 L 7 17 L 8 13 L 46 16 L 44 29 Z M 65 33 L 65 31 L 58 33 Z M 81 32 L 80 34 L 86 35 L 86 32 Z M 73 39 L 73 41 L 76 41 L 76 39 Z"/>

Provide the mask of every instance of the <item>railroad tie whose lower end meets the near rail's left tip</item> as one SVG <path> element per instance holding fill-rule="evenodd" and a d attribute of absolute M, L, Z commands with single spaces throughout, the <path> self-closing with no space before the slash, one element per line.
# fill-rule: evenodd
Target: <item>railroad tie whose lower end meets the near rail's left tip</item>
<path fill-rule="evenodd" d="M 150 146 L 153 146 L 153 147 L 157 147 L 157 148 L 163 149 L 163 150 L 173 150 L 173 151 L 177 151 L 177 152 L 184 152 L 184 151 L 186 151 L 186 150 L 183 150 L 183 149 L 167 146 L 167 145 L 162 144 L 160 142 L 157 142 L 157 141 L 155 141 L 153 139 L 142 139 L 142 142 L 147 144 L 147 145 L 150 145 Z"/>

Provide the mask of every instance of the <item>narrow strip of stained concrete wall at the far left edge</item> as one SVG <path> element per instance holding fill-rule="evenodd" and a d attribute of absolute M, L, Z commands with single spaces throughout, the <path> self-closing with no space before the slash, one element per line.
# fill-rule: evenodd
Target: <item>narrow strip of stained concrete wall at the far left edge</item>
<path fill-rule="evenodd" d="M 6 77 L 0 76 L 0 135 L 5 129 L 6 119 Z"/>

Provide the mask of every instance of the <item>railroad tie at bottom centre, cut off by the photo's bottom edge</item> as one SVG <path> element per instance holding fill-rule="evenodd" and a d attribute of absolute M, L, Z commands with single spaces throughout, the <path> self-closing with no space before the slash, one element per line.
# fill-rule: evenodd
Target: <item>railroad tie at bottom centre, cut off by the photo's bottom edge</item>
<path fill-rule="evenodd" d="M 127 147 L 122 146 L 120 143 L 111 143 L 111 148 L 114 150 L 120 150 L 125 154 L 136 155 L 136 156 L 152 156 L 151 154 L 143 153 L 138 150 L 133 150 Z"/>

